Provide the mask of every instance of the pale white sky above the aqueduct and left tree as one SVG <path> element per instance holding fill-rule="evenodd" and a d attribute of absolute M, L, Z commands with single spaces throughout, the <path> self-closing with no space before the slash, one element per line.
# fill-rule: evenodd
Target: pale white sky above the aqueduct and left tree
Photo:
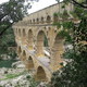
<path fill-rule="evenodd" d="M 0 4 L 3 3 L 3 2 L 7 2 L 9 0 L 0 0 Z M 51 4 L 54 4 L 57 3 L 55 0 L 39 0 L 38 2 L 34 2 L 32 3 L 32 9 L 28 10 L 29 13 L 33 13 L 33 12 L 36 12 L 38 10 L 41 10 L 46 7 L 49 7 Z"/>

